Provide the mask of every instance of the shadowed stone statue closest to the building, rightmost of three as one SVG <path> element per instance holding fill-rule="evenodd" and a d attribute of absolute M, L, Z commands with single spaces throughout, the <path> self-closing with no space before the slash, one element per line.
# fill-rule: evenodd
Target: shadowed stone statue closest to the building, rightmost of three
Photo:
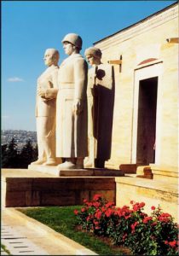
<path fill-rule="evenodd" d="M 90 47 L 85 50 L 84 55 L 91 66 L 87 89 L 89 156 L 85 158 L 84 166 L 103 168 L 111 154 L 113 66 L 101 63 L 101 49 Z"/>

